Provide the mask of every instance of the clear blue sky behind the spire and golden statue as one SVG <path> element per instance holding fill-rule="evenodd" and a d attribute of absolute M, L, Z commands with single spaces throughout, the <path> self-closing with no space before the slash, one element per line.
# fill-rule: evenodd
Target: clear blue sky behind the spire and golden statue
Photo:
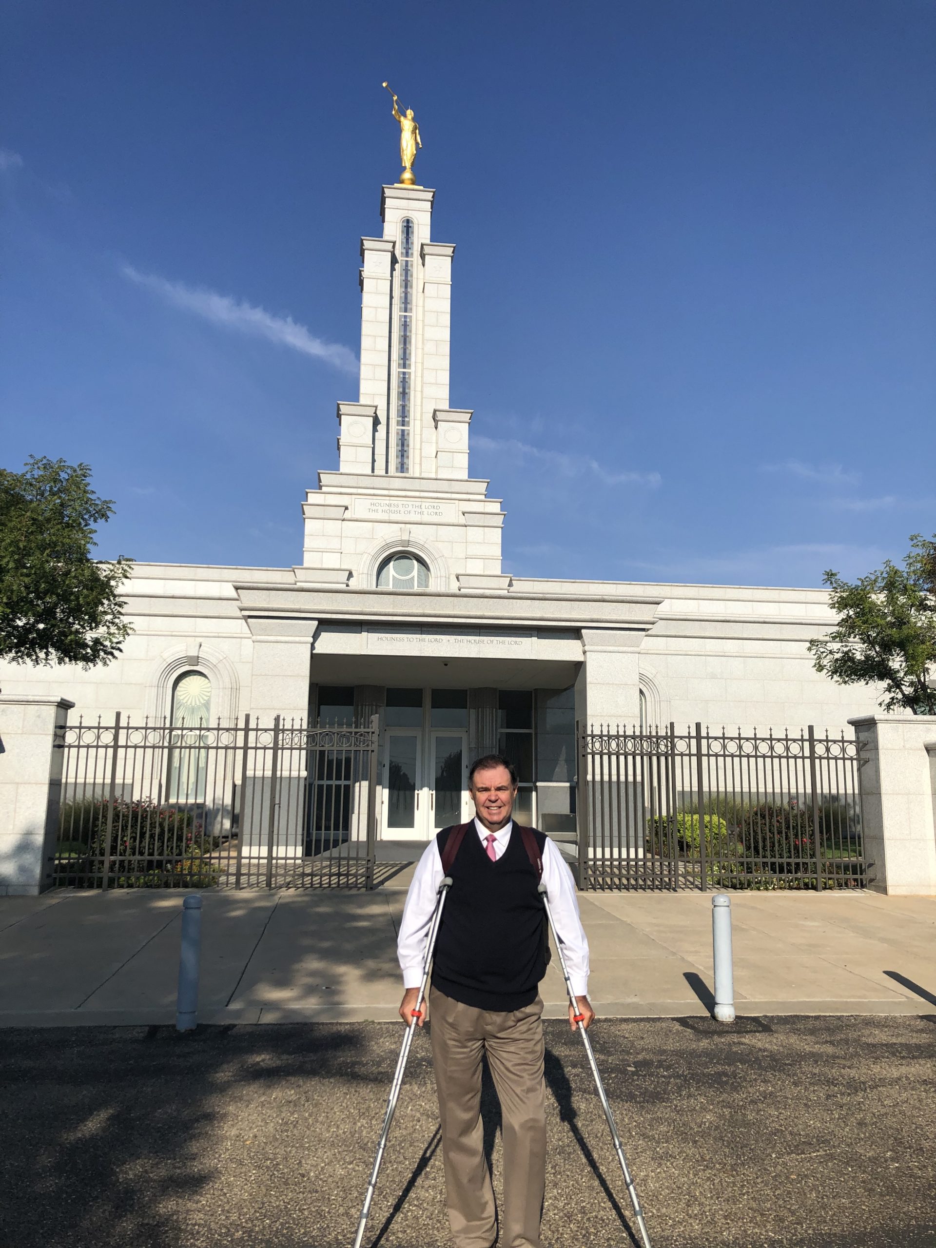
<path fill-rule="evenodd" d="M 292 565 L 416 110 L 522 575 L 817 585 L 936 530 L 936 5 L 7 0 L 2 464 Z"/>

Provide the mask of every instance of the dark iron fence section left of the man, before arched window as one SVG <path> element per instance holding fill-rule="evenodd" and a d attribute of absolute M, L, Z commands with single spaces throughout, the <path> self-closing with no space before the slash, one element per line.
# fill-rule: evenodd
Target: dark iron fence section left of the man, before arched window
<path fill-rule="evenodd" d="M 374 886 L 376 716 L 180 728 L 117 715 L 66 728 L 61 749 L 56 885 Z"/>

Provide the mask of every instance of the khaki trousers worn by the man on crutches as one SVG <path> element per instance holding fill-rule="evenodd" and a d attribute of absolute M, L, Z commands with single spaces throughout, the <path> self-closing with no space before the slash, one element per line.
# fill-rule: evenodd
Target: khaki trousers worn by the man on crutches
<path fill-rule="evenodd" d="M 497 1214 L 480 1121 L 482 1058 L 500 1099 L 504 1209 L 500 1248 L 542 1248 L 545 1188 L 543 1002 L 502 1013 L 429 992 L 448 1219 L 456 1248 L 492 1248 Z"/>

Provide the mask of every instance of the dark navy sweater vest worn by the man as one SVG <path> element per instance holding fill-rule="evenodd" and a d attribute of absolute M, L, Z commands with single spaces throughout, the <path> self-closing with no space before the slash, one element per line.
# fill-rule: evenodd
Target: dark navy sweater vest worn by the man
<path fill-rule="evenodd" d="M 438 834 L 439 854 L 451 831 Z M 545 836 L 534 836 L 542 855 Z M 432 986 L 478 1010 L 509 1012 L 532 1005 L 549 946 L 539 877 L 517 829 L 492 862 L 472 824 L 448 874 L 452 887 L 436 938 Z"/>

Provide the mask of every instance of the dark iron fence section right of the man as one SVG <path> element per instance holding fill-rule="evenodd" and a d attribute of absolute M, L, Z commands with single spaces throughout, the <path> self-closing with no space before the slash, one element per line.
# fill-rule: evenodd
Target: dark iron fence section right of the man
<path fill-rule="evenodd" d="M 862 887 L 857 744 L 844 733 L 579 730 L 583 889 Z"/>

